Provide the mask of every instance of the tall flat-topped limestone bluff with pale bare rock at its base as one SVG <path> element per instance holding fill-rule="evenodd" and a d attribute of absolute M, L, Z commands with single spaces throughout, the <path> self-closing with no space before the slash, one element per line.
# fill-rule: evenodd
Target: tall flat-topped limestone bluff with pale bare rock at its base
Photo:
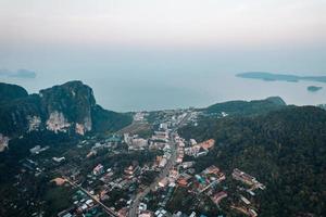
<path fill-rule="evenodd" d="M 96 100 L 91 88 L 82 81 L 70 81 L 41 90 L 39 95 L 46 110 L 47 129 L 66 131 L 73 127 L 79 135 L 92 129 L 91 111 Z"/>

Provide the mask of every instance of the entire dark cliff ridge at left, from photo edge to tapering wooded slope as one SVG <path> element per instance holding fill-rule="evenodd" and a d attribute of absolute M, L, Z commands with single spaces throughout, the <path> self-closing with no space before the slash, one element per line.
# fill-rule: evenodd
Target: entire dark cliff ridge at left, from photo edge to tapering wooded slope
<path fill-rule="evenodd" d="M 114 131 L 130 124 L 131 117 L 103 110 L 96 104 L 92 89 L 82 81 L 70 81 L 28 95 L 23 88 L 0 92 L 0 151 L 12 137 L 35 130 L 75 132 Z M 16 93 L 8 91 L 9 88 Z"/>

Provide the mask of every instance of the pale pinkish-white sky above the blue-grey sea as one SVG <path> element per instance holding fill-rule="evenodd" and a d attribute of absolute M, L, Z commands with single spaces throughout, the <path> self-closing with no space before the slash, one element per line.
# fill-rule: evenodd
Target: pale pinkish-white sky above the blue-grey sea
<path fill-rule="evenodd" d="M 0 43 L 248 48 L 326 43 L 325 0 L 1 0 Z"/>

